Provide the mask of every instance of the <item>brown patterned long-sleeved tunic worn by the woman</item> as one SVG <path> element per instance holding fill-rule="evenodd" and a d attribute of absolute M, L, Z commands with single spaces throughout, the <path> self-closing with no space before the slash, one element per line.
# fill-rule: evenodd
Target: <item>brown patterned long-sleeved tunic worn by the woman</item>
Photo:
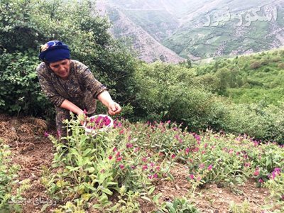
<path fill-rule="evenodd" d="M 70 112 L 60 107 L 65 99 L 80 109 L 86 109 L 88 114 L 94 114 L 97 96 L 107 89 L 94 78 L 86 65 L 77 60 L 70 60 L 70 75 L 67 80 L 55 75 L 45 62 L 40 63 L 36 70 L 41 89 L 55 105 L 56 126 L 59 131 L 62 131 L 62 121 L 70 119 Z"/>

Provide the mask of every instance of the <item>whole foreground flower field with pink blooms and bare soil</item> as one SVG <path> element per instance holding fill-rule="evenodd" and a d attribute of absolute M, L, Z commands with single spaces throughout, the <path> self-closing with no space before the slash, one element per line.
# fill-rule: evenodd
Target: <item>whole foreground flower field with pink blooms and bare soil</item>
<path fill-rule="evenodd" d="M 4 124 L 11 122 L 1 121 L 2 133 Z M 16 126 L 18 135 L 23 126 Z M 11 187 L 3 187 L 1 179 L 1 211 L 284 211 L 284 149 L 277 143 L 192 133 L 171 121 L 131 124 L 120 119 L 95 136 L 85 134 L 77 119 L 67 126 L 68 136 L 61 141 L 46 128 L 32 129 L 33 143 L 26 149 L 16 146 L 19 139 L 1 136 L 1 153 L 10 154 L 0 156 L 6 166 L 0 177 L 11 177 L 5 180 Z M 38 147 L 41 156 L 34 153 Z M 38 165 L 25 165 L 25 158 Z M 7 170 L 11 163 L 13 169 Z"/>

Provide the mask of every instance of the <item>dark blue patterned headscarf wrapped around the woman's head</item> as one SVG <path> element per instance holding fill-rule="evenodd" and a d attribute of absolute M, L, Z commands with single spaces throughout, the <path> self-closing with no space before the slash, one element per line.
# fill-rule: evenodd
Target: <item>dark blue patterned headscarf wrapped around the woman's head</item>
<path fill-rule="evenodd" d="M 45 45 L 41 45 L 38 57 L 44 62 L 57 62 L 70 59 L 70 50 L 60 40 L 50 40 Z"/>

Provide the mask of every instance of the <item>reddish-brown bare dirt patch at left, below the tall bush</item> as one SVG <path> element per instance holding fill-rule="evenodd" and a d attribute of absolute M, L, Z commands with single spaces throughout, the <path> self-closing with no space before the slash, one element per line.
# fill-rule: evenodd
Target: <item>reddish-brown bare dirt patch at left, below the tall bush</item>
<path fill-rule="evenodd" d="M 18 179 L 30 180 L 30 189 L 22 195 L 23 213 L 40 212 L 48 201 L 40 177 L 43 167 L 49 168 L 53 160 L 53 144 L 43 136 L 45 131 L 48 125 L 41 119 L 0 116 L 0 138 L 11 148 L 12 163 L 20 166 Z"/>

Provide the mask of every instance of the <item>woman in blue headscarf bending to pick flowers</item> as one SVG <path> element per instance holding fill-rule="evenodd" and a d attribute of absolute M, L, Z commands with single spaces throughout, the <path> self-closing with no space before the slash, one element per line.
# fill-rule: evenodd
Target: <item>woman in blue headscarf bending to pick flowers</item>
<path fill-rule="evenodd" d="M 70 50 L 65 43 L 51 40 L 40 47 L 37 67 L 38 80 L 46 97 L 55 105 L 56 127 L 62 136 L 62 121 L 70 119 L 70 111 L 80 116 L 94 114 L 99 99 L 110 115 L 119 114 L 121 107 L 111 99 L 107 87 L 94 78 L 88 67 L 70 60 Z"/>

